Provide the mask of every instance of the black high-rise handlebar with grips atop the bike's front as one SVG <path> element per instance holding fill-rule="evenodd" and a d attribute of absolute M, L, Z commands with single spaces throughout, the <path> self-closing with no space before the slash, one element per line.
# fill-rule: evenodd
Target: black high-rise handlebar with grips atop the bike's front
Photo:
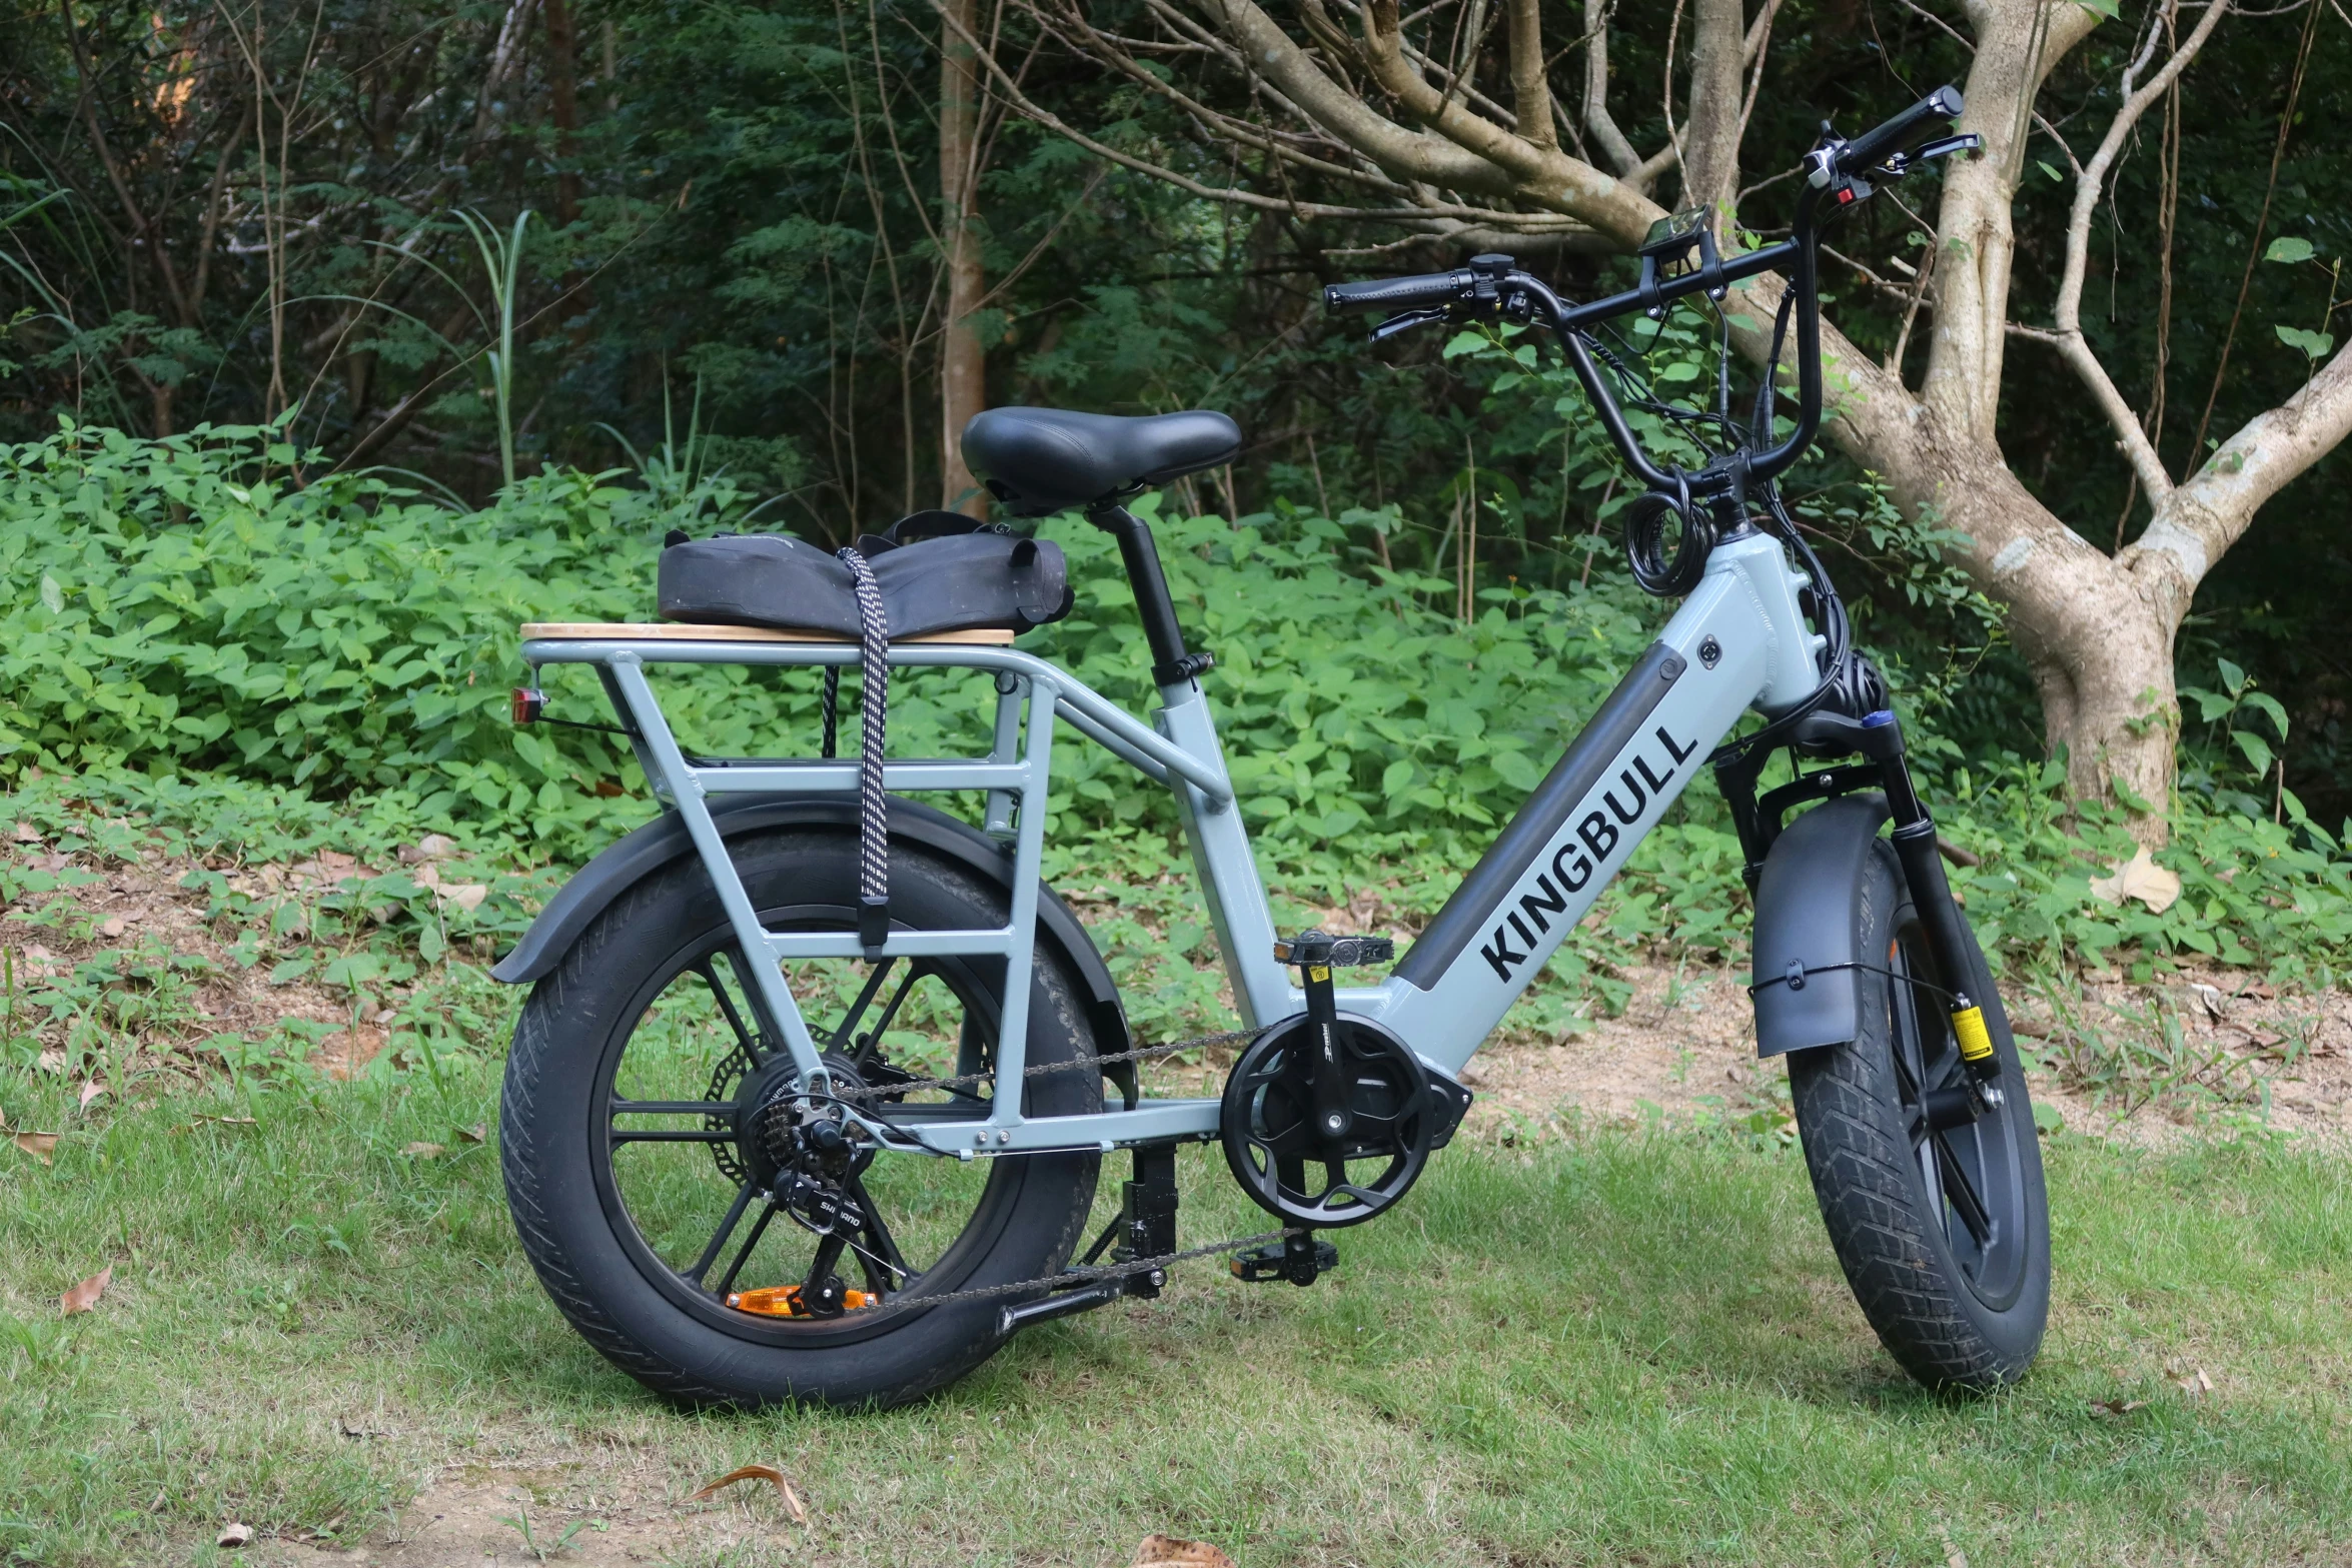
<path fill-rule="evenodd" d="M 1569 355 L 1569 364 L 1576 369 L 1576 378 L 1583 383 L 1585 397 L 1592 402 L 1592 411 L 1609 430 L 1616 449 L 1625 456 L 1628 468 L 1632 468 L 1644 484 L 1653 489 L 1675 489 L 1679 482 L 1691 482 L 1693 494 L 1700 494 L 1700 484 L 1712 487 L 1712 494 L 1736 494 L 1738 487 L 1745 487 L 1748 482 L 1771 480 L 1788 470 L 1797 456 L 1813 444 L 1813 435 L 1820 428 L 1820 299 L 1816 292 L 1816 244 L 1823 200 L 1832 207 L 1846 207 L 1858 197 L 1867 197 L 1870 186 L 1858 179 L 1860 174 L 1870 169 L 1900 174 L 1903 165 L 1889 165 L 1889 160 L 1931 141 L 1943 125 L 1959 118 L 1959 89 L 1938 87 L 1853 141 L 1839 141 L 1825 134 L 1820 148 L 1816 148 L 1806 160 L 1813 176 L 1806 183 L 1804 195 L 1797 197 L 1797 221 L 1788 240 L 1722 261 L 1715 261 L 1715 252 L 1708 249 L 1703 252 L 1708 256 L 1708 266 L 1693 266 L 1677 277 L 1661 277 L 1658 273 L 1663 268 L 1653 268 L 1644 261 L 1642 287 L 1576 306 L 1559 299 L 1543 280 L 1517 270 L 1510 256 L 1472 256 L 1468 268 L 1454 268 L 1451 273 L 1329 284 L 1324 287 L 1324 308 L 1334 315 L 1376 308 L 1404 310 L 1404 315 L 1395 317 L 1385 327 L 1376 327 L 1374 339 L 1418 322 L 1437 322 L 1461 315 L 1491 315 L 1496 310 L 1515 315 L 1517 320 L 1541 315 L 1550 322 L 1562 350 Z M 1955 150 L 1955 146 L 1966 141 L 1973 139 L 1955 139 L 1933 148 L 1931 155 Z M 1788 287 L 1795 294 L 1792 324 L 1797 329 L 1797 428 L 1790 430 L 1790 435 L 1776 447 L 1766 451 L 1743 447 L 1740 451 L 1710 465 L 1703 475 L 1684 475 L 1679 470 L 1668 473 L 1665 468 L 1658 468 L 1658 463 L 1642 451 L 1642 442 L 1632 433 L 1632 425 L 1625 423 L 1625 409 L 1618 404 L 1609 383 L 1602 378 L 1599 367 L 1592 362 L 1583 329 L 1618 315 L 1632 315 L 1635 310 L 1663 315 L 1668 303 L 1689 294 L 1705 292 L 1722 299 L 1722 292 L 1731 284 L 1776 270 L 1788 273 Z"/>

